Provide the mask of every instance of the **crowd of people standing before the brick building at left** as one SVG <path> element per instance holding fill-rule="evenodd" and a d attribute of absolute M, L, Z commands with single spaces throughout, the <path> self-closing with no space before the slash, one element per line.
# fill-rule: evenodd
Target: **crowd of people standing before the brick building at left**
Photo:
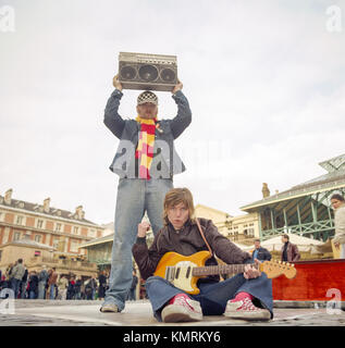
<path fill-rule="evenodd" d="M 45 265 L 39 271 L 28 271 L 23 259 L 10 264 L 3 273 L 0 271 L 0 291 L 9 288 L 17 299 L 102 300 L 109 287 L 106 271 L 99 272 L 97 277 L 83 279 L 72 273 L 59 275 L 56 268 L 47 270 Z M 128 299 L 135 299 L 133 289 L 128 291 Z"/>

